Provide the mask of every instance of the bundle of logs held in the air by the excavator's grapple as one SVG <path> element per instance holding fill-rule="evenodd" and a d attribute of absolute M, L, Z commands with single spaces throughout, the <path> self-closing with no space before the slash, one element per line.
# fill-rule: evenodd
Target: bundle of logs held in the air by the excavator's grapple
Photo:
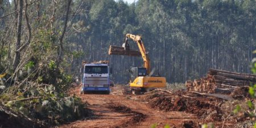
<path fill-rule="evenodd" d="M 118 46 L 110 46 L 109 55 L 141 56 L 141 52 L 133 49 L 125 50 L 125 48 Z"/>

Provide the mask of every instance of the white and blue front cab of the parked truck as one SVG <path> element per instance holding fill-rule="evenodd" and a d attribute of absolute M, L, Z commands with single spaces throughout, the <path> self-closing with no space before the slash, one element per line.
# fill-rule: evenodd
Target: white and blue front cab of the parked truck
<path fill-rule="evenodd" d="M 104 92 L 110 93 L 110 68 L 108 64 L 92 63 L 84 64 L 84 75 L 80 93 Z"/>

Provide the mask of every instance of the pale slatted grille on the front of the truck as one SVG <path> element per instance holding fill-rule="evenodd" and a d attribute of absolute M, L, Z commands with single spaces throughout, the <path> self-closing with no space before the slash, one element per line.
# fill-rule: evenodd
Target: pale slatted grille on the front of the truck
<path fill-rule="evenodd" d="M 108 77 L 85 77 L 85 85 L 103 86 L 108 83 Z"/>

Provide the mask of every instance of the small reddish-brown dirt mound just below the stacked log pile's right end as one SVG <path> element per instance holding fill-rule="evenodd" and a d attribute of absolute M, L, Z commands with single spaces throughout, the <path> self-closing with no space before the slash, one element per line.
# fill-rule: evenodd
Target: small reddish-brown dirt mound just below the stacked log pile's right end
<path fill-rule="evenodd" d="M 242 86 L 237 88 L 230 94 L 234 99 L 243 100 L 245 98 L 250 98 L 249 86 Z"/>

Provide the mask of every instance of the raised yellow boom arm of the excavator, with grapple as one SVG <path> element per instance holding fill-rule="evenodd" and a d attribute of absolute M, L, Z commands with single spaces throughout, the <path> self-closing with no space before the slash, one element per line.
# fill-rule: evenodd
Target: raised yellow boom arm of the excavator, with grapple
<path fill-rule="evenodd" d="M 139 51 L 141 52 L 143 61 L 144 61 L 144 68 L 147 69 L 147 75 L 150 74 L 150 59 L 147 55 L 146 48 L 144 47 L 144 43 L 142 41 L 141 36 L 139 35 L 133 35 L 133 34 L 126 34 L 124 44 L 122 45 L 125 49 L 129 50 L 129 44 L 127 42 L 128 38 L 132 39 L 134 42 L 137 43 L 139 47 Z M 128 47 L 127 47 L 128 46 Z"/>

